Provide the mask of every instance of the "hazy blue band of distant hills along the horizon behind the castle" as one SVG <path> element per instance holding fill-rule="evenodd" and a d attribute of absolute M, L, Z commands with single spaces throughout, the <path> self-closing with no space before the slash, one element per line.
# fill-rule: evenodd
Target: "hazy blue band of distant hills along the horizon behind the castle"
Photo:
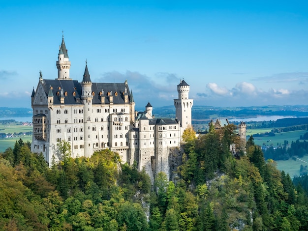
<path fill-rule="evenodd" d="M 144 108 L 137 108 L 137 111 L 143 111 Z M 175 117 L 175 108 L 173 105 L 164 107 L 154 107 L 153 114 L 155 117 Z M 0 117 L 23 117 L 31 116 L 31 108 L 8 108 L 0 107 Z M 251 107 L 212 107 L 212 106 L 193 106 L 192 119 L 203 120 L 212 118 L 236 118 L 236 117 L 253 117 L 260 115 L 282 115 L 282 116 L 308 116 L 308 105 L 268 105 L 268 106 L 251 106 Z"/>

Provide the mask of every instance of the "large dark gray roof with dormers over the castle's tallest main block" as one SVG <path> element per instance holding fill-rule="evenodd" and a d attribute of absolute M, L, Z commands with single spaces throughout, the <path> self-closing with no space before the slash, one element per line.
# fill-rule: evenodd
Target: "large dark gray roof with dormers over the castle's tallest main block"
<path fill-rule="evenodd" d="M 54 95 L 54 104 L 60 104 L 60 95 L 61 89 L 64 92 L 64 103 L 65 104 L 83 104 L 80 96 L 82 95 L 81 90 L 81 83 L 78 83 L 76 80 L 42 80 L 42 86 L 48 96 L 49 93 Z M 51 89 L 51 92 L 49 90 Z M 124 103 L 124 92 L 125 87 L 128 86 L 125 83 L 92 83 L 92 92 L 94 93 L 92 103 L 93 104 L 101 104 L 101 96 L 99 95 L 100 92 L 105 93 L 105 102 L 109 104 L 109 97 L 107 96 L 110 93 L 113 96 L 113 103 L 114 104 L 123 104 Z M 65 92 L 67 95 L 65 95 Z M 75 96 L 74 96 L 75 92 Z M 116 95 L 117 92 L 117 95 Z M 129 92 L 129 90 L 127 91 Z M 128 94 L 130 97 L 130 94 Z"/>

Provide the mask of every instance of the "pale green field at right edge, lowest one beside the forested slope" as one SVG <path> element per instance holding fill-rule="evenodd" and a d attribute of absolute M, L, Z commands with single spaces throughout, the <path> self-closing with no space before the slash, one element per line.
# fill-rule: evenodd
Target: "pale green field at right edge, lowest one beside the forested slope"
<path fill-rule="evenodd" d="M 300 175 L 301 165 L 308 165 L 308 154 L 300 159 L 303 161 L 299 159 L 292 160 L 292 158 L 290 158 L 289 160 L 278 160 L 275 162 L 277 163 L 277 169 L 279 169 L 280 171 L 283 170 L 285 173 L 289 173 L 291 178 L 293 178 L 296 175 Z M 306 161 L 307 163 L 305 163 L 304 161 Z"/>

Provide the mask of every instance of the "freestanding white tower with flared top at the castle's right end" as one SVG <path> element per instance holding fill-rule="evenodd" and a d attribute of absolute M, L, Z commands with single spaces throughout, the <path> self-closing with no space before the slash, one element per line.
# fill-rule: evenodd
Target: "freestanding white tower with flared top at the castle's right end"
<path fill-rule="evenodd" d="M 191 125 L 191 108 L 193 100 L 189 99 L 189 85 L 181 80 L 178 85 L 179 98 L 174 99 L 174 106 L 176 110 L 176 118 L 180 121 L 182 126 L 181 136 L 187 126 Z"/>

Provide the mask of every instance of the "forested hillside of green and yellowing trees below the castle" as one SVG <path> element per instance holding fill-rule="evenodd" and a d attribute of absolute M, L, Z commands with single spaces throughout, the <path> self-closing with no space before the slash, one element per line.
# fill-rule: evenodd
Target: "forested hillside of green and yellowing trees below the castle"
<path fill-rule="evenodd" d="M 61 142 L 60 162 L 48 168 L 29 143 L 16 142 L 0 157 L 0 230 L 67 231 L 297 231 L 308 229 L 308 198 L 249 139 L 240 148 L 235 126 L 186 141 L 179 178 L 148 175 L 121 164 L 106 149 L 70 158 Z"/>

